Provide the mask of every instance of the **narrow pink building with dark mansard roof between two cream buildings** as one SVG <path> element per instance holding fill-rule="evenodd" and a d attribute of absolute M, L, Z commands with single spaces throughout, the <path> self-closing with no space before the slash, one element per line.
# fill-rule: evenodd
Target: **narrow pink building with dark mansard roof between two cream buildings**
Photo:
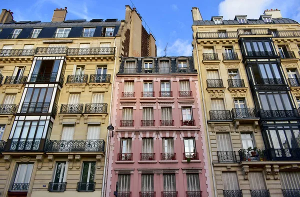
<path fill-rule="evenodd" d="M 106 197 L 208 197 L 191 57 L 128 57 L 115 78 Z"/>

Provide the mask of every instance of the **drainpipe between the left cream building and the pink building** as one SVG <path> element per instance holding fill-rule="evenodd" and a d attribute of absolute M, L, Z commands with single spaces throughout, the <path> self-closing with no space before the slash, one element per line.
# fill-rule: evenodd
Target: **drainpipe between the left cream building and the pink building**
<path fill-rule="evenodd" d="M 115 59 L 114 59 L 114 68 L 113 68 L 113 75 L 112 75 L 112 88 L 111 88 L 111 94 L 110 94 L 110 107 L 109 107 L 109 118 L 108 118 L 108 125 L 110 124 L 111 121 L 111 109 L 112 109 L 112 99 L 113 99 L 113 91 L 114 91 L 114 78 L 115 78 L 115 66 L 116 66 L 116 56 L 117 56 L 117 46 L 115 45 L 115 38 L 114 38 L 114 47 L 115 47 Z M 107 187 L 107 175 L 108 172 L 106 173 L 106 165 L 108 163 L 109 159 L 109 147 L 110 147 L 110 133 L 109 130 L 107 130 L 107 137 L 106 137 L 106 154 L 105 154 L 105 162 L 104 162 L 104 171 L 103 171 L 103 179 L 102 182 L 104 183 L 104 186 L 102 185 L 102 191 L 101 191 L 101 197 L 104 197 L 104 193 L 106 193 L 106 187 Z M 106 176 L 105 176 L 106 175 Z M 105 180 L 106 179 L 106 180 Z M 102 184 L 103 184 L 102 183 Z"/>

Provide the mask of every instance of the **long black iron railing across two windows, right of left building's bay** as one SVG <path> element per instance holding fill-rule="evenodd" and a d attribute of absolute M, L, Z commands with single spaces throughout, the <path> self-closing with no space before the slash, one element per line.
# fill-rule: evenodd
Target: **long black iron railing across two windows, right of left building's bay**
<path fill-rule="evenodd" d="M 46 140 L 46 152 L 104 152 L 104 140 Z"/>

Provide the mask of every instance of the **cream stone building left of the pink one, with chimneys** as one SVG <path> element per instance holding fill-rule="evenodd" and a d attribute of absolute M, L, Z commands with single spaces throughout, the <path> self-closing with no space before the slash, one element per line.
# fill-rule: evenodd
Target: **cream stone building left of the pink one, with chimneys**
<path fill-rule="evenodd" d="M 0 14 L 3 197 L 103 195 L 119 56 L 155 56 L 153 36 L 128 5 L 124 20 L 66 14 L 54 10 L 51 22 Z"/>

